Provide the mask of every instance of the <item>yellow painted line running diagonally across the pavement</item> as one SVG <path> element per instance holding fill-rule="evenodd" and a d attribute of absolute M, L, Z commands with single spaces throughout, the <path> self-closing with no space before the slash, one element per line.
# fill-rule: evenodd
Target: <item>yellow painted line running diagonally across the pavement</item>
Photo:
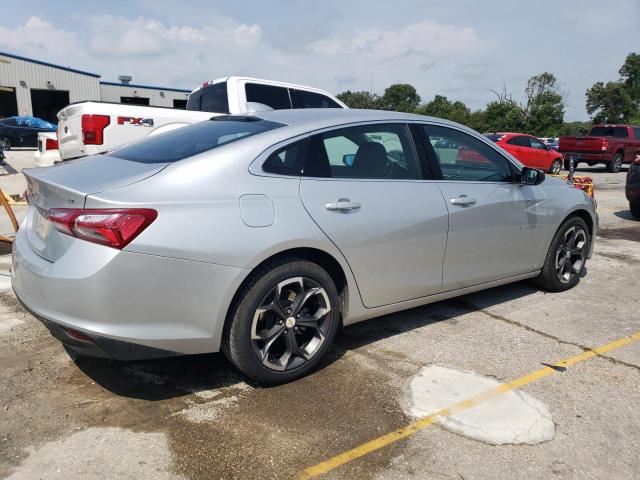
<path fill-rule="evenodd" d="M 604 355 L 607 352 L 620 347 L 624 347 L 625 345 L 629 345 L 637 341 L 640 341 L 640 332 L 636 332 L 628 337 L 615 340 L 611 343 L 601 345 L 591 350 L 586 350 L 579 355 L 575 355 L 573 357 L 569 357 L 565 360 L 554 363 L 553 366 L 562 368 L 571 367 L 573 365 L 576 365 L 577 363 L 584 362 L 599 355 Z M 362 445 L 359 445 L 351 450 L 348 450 L 344 453 L 336 455 L 335 457 L 329 458 L 328 460 L 308 467 L 300 472 L 300 474 L 298 475 L 298 479 L 309 480 L 323 475 L 327 472 L 330 472 L 331 470 L 335 470 L 336 468 L 355 460 L 356 458 L 368 455 L 369 453 L 386 447 L 392 443 L 397 442 L 398 440 L 402 440 L 403 438 L 409 437 L 410 435 L 413 435 L 414 433 L 427 428 L 429 425 L 434 423 L 438 417 L 447 417 L 453 415 L 456 412 L 467 410 L 481 402 L 485 402 L 499 395 L 505 394 L 512 390 L 516 390 L 529 383 L 535 382 L 536 380 L 540 380 L 541 378 L 553 375 L 554 373 L 558 373 L 558 371 L 551 367 L 544 367 L 520 378 L 516 378 L 509 383 L 503 383 L 496 388 L 487 390 L 486 392 L 480 393 L 466 400 L 462 400 L 461 402 L 455 403 L 450 407 L 438 410 L 437 412 L 434 412 L 431 415 L 427 415 L 426 417 L 422 417 L 415 422 L 410 423 L 409 425 L 394 430 L 393 432 L 389 432 L 385 435 L 382 435 L 381 437 L 374 438 L 373 440 L 365 442 Z"/>

